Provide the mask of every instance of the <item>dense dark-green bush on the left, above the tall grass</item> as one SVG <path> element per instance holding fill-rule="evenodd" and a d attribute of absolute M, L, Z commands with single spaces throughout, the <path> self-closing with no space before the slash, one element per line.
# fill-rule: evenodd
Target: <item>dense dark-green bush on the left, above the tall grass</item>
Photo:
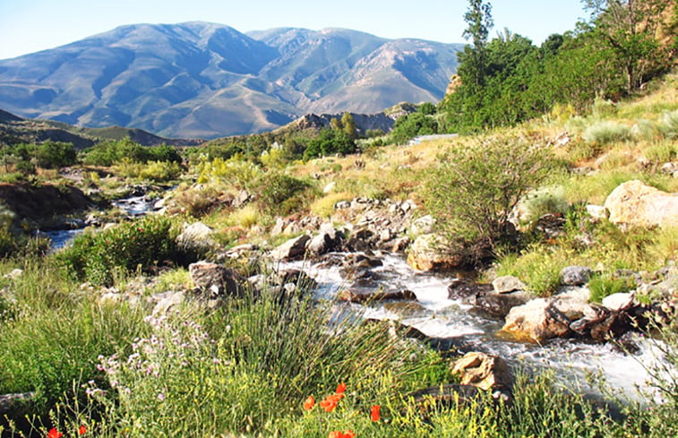
<path fill-rule="evenodd" d="M 176 231 L 162 216 L 148 216 L 103 231 L 83 234 L 56 253 L 56 261 L 77 279 L 111 285 L 117 274 L 148 271 L 176 260 Z"/>

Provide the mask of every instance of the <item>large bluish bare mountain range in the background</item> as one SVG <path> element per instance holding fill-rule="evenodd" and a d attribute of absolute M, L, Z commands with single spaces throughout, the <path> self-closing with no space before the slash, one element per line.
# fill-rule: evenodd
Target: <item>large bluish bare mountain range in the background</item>
<path fill-rule="evenodd" d="M 255 133 L 312 112 L 439 100 L 462 47 L 343 29 L 129 25 L 0 60 L 0 107 L 166 137 Z"/>

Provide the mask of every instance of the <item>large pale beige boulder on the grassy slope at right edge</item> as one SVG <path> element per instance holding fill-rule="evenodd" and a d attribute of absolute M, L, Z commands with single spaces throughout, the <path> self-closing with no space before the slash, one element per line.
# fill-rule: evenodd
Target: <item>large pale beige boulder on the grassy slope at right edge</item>
<path fill-rule="evenodd" d="M 610 222 L 631 227 L 671 227 L 678 223 L 678 193 L 665 193 L 638 180 L 627 181 L 605 199 Z"/>

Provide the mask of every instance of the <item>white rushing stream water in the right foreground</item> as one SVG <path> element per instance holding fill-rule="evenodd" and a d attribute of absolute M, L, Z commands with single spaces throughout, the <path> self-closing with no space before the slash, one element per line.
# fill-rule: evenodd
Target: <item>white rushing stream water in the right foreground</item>
<path fill-rule="evenodd" d="M 470 305 L 448 298 L 450 277 L 421 273 L 411 269 L 397 255 L 386 255 L 383 265 L 374 268 L 380 274 L 375 288 L 403 290 L 416 294 L 416 302 L 351 305 L 366 318 L 398 320 L 437 339 L 442 348 L 460 352 L 482 351 L 501 356 L 512 367 L 553 370 L 556 378 L 569 388 L 596 393 L 596 384 L 604 379 L 615 391 L 637 399 L 637 386 L 644 387 L 648 372 L 643 366 L 656 360 L 655 348 L 647 339 L 639 340 L 636 356 L 623 353 L 612 344 L 593 344 L 572 339 L 555 339 L 545 345 L 517 342 L 500 336 L 503 322 L 477 313 Z M 301 269 L 319 282 L 319 296 L 331 298 L 348 286 L 339 267 L 324 267 L 308 262 L 290 262 L 285 266 Z M 589 377 L 589 379 L 587 379 Z"/>

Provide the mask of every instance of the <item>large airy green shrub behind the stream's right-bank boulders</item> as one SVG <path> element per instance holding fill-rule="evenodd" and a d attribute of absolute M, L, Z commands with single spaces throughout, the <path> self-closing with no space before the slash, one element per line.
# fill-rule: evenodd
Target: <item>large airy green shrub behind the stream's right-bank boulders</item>
<path fill-rule="evenodd" d="M 549 150 L 523 138 L 457 144 L 426 171 L 425 203 L 449 233 L 493 247 L 511 236 L 511 210 L 545 180 L 552 164 Z"/>

